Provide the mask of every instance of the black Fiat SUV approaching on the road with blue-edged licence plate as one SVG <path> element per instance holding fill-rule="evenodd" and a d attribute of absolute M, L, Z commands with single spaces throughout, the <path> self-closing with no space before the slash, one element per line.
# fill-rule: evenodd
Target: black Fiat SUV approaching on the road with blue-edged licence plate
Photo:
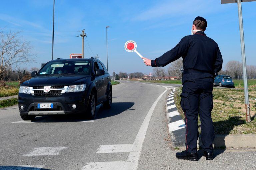
<path fill-rule="evenodd" d="M 19 111 L 23 120 L 42 115 L 79 113 L 95 117 L 99 104 L 112 105 L 110 75 L 95 58 L 56 59 L 46 63 L 19 90 Z"/>

